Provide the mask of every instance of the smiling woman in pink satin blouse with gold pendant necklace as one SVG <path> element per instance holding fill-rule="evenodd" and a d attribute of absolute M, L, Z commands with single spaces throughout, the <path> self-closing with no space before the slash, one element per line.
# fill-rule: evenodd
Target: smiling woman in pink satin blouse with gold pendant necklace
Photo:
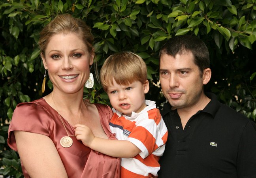
<path fill-rule="evenodd" d="M 111 109 L 83 100 L 84 84 L 93 81 L 93 41 L 85 22 L 67 14 L 58 15 L 40 33 L 41 58 L 53 92 L 17 105 L 8 131 L 8 145 L 19 152 L 25 178 L 120 175 L 120 159 L 84 146 L 73 128 L 85 124 L 97 137 L 115 139 L 109 129 Z"/>

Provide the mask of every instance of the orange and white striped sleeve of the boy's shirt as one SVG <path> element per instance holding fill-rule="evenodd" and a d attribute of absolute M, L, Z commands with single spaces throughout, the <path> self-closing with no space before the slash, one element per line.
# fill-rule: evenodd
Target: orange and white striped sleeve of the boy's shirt
<path fill-rule="evenodd" d="M 140 156 L 144 159 L 166 143 L 168 132 L 158 109 L 145 112 L 143 118 L 137 121 L 127 140 L 141 150 Z M 157 154 L 162 154 L 159 149 Z"/>

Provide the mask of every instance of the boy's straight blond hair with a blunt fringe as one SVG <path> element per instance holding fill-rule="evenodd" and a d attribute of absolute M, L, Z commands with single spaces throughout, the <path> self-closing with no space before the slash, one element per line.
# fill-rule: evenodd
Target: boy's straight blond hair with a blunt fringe
<path fill-rule="evenodd" d="M 147 66 L 143 59 L 133 52 L 119 52 L 109 56 L 100 70 L 102 87 L 113 84 L 129 85 L 134 81 L 145 83 L 147 80 Z"/>

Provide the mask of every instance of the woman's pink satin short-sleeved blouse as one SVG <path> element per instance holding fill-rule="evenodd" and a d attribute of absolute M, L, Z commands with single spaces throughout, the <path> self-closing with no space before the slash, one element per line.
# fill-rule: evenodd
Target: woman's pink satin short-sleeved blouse
<path fill-rule="evenodd" d="M 109 129 L 109 120 L 112 111 L 109 106 L 95 104 L 98 109 L 101 125 L 109 137 L 116 139 Z M 69 135 L 74 135 L 74 128 L 62 117 Z M 62 163 L 69 178 L 119 178 L 120 158 L 107 156 L 91 150 L 71 137 L 73 144 L 69 148 L 60 145 L 60 139 L 67 136 L 62 122 L 56 112 L 43 99 L 28 103 L 20 103 L 13 112 L 13 117 L 8 130 L 8 145 L 11 149 L 17 150 L 13 131 L 27 131 L 40 133 L 50 137 L 58 150 Z M 28 172 L 21 163 L 25 178 L 30 178 Z"/>

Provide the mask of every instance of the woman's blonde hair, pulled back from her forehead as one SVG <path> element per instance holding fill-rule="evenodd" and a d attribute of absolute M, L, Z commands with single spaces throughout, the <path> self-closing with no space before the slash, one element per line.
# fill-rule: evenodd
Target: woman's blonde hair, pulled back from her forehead
<path fill-rule="evenodd" d="M 60 14 L 55 17 L 49 24 L 47 24 L 40 32 L 40 39 L 38 46 L 41 54 L 45 57 L 45 49 L 49 43 L 49 40 L 55 34 L 60 33 L 75 33 L 85 43 L 90 54 L 94 54 L 93 43 L 94 37 L 91 33 L 91 29 L 81 19 L 76 19 L 70 14 Z"/>

